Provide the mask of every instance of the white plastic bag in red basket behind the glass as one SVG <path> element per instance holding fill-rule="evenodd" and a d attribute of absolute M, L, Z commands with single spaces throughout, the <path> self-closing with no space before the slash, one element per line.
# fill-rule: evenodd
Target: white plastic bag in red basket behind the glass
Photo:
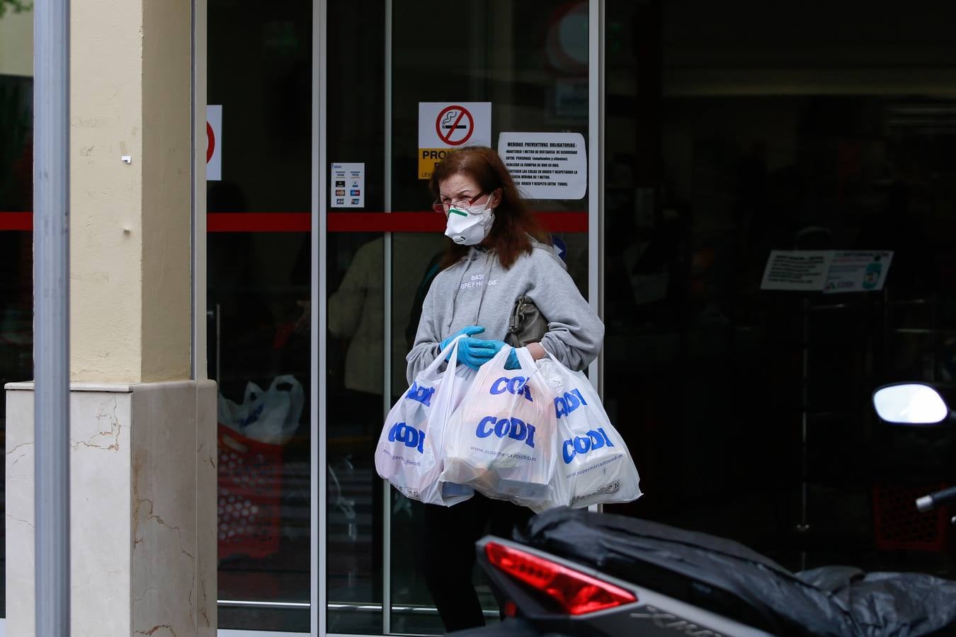
<path fill-rule="evenodd" d="M 241 405 L 220 393 L 218 420 L 258 442 L 285 444 L 298 429 L 304 405 L 302 384 L 292 375 L 281 375 L 272 379 L 265 392 L 255 383 L 247 383 Z"/>

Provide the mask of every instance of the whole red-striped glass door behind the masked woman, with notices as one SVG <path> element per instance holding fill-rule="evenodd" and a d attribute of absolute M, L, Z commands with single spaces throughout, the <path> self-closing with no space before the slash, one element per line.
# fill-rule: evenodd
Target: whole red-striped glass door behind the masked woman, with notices
<path fill-rule="evenodd" d="M 417 507 L 373 460 L 384 415 L 407 389 L 405 354 L 446 247 L 445 219 L 429 211 L 435 161 L 461 145 L 497 150 L 597 305 L 593 4 L 316 5 L 325 16 L 315 252 L 326 482 L 314 621 L 328 633 L 444 632 L 418 567 L 427 547 L 416 540 Z M 488 584 L 477 572 L 475 582 L 487 621 L 497 621 Z"/>

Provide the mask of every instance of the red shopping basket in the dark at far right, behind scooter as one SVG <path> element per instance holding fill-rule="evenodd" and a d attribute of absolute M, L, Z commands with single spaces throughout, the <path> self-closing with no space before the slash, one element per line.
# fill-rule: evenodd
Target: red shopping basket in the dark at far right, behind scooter
<path fill-rule="evenodd" d="M 943 484 L 876 484 L 873 515 L 877 548 L 883 551 L 944 551 L 948 546 L 946 507 L 921 513 L 916 499 L 945 488 Z"/>

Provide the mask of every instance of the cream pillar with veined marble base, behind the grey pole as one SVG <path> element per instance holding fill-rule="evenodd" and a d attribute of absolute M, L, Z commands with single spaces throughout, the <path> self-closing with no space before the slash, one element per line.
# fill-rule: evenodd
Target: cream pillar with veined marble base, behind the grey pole
<path fill-rule="evenodd" d="M 191 11 L 72 3 L 75 637 L 215 634 L 216 389 L 190 378 Z M 33 387 L 7 392 L 7 632 L 33 635 Z"/>

